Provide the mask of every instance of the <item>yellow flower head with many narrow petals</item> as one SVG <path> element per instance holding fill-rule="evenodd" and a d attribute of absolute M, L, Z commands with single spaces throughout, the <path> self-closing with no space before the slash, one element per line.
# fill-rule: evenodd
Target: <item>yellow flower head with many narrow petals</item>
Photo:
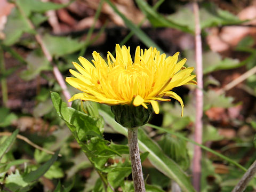
<path fill-rule="evenodd" d="M 178 61 L 179 52 L 172 57 L 160 54 L 156 48 L 148 50 L 137 47 L 134 61 L 130 47 L 116 45 L 116 58 L 108 52 L 107 62 L 94 51 L 93 64 L 83 57 L 78 60 L 82 66 L 73 62 L 79 71 L 70 69 L 75 77 L 67 77 L 66 82 L 83 91 L 73 95 L 75 99 L 95 101 L 107 105 L 142 105 L 146 109 L 151 103 L 156 114 L 159 113 L 158 101 L 170 101 L 171 97 L 180 102 L 183 114 L 183 101 L 178 94 L 170 91 L 185 84 L 196 84 L 191 75 L 193 67 L 183 67 L 186 59 Z"/>

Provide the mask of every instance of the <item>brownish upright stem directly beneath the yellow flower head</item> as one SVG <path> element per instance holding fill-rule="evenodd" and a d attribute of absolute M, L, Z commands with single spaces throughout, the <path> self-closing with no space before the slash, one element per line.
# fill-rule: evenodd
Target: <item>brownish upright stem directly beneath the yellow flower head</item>
<path fill-rule="evenodd" d="M 132 162 L 132 179 L 135 192 L 146 192 L 140 162 L 138 127 L 128 128 L 128 145 Z"/>

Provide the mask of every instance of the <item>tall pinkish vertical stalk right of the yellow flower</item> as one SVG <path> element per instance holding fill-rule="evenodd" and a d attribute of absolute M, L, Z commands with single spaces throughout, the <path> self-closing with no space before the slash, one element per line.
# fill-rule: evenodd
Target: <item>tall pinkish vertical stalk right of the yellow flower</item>
<path fill-rule="evenodd" d="M 196 45 L 196 124 L 195 124 L 195 141 L 202 144 L 203 130 L 203 62 L 202 62 L 202 39 L 199 21 L 199 8 L 196 1 L 193 2 L 193 10 L 195 15 L 195 45 Z M 193 186 L 200 191 L 201 183 L 201 158 L 202 151 L 199 146 L 195 146 L 193 159 Z"/>

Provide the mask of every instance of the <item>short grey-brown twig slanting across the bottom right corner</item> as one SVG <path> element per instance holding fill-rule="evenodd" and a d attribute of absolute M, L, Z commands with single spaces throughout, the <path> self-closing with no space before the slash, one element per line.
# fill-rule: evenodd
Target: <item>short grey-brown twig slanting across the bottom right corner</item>
<path fill-rule="evenodd" d="M 243 192 L 247 184 L 252 180 L 256 173 L 256 161 L 249 167 L 249 169 L 244 173 L 242 179 L 237 183 L 232 192 Z"/>

